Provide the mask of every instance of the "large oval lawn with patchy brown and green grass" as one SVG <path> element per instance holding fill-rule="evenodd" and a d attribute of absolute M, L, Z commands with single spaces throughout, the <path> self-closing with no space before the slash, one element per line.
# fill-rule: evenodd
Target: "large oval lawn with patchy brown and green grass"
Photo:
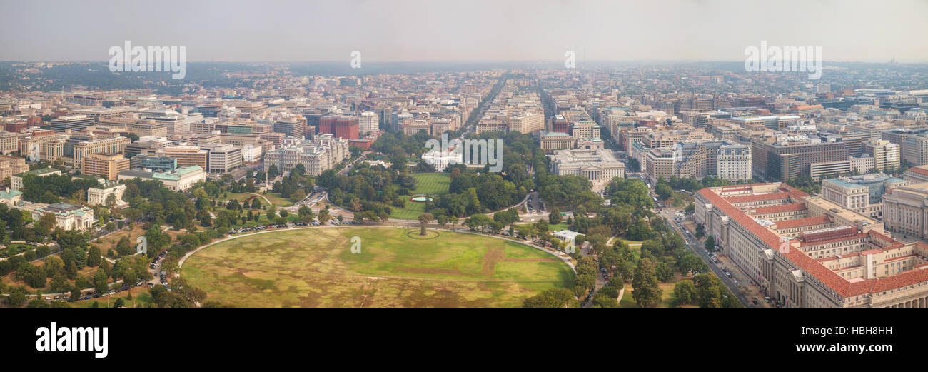
<path fill-rule="evenodd" d="M 209 301 L 261 308 L 518 307 L 574 282 L 570 267 L 531 247 L 432 230 L 418 239 L 418 232 L 342 227 L 240 237 L 191 256 L 182 276 Z M 352 237 L 361 239 L 359 254 Z"/>

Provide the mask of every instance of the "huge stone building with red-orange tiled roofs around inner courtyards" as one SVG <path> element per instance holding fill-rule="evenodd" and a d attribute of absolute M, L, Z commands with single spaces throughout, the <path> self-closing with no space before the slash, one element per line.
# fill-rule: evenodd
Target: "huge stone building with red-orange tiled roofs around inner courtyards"
<path fill-rule="evenodd" d="M 696 224 L 779 306 L 928 307 L 928 245 L 868 216 L 784 183 L 703 188 L 695 206 Z"/>

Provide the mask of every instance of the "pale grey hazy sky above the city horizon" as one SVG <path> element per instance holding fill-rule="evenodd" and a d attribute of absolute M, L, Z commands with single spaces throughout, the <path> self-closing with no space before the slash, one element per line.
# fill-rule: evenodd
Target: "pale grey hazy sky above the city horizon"
<path fill-rule="evenodd" d="M 928 1 L 0 0 L 0 60 L 743 60 L 760 45 L 825 60 L 928 61 Z"/>

